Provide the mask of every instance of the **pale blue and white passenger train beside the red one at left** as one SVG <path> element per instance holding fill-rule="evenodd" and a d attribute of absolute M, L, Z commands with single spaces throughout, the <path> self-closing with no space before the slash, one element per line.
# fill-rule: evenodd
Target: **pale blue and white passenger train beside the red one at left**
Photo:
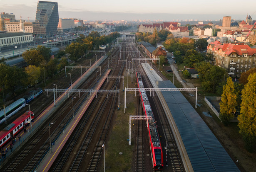
<path fill-rule="evenodd" d="M 25 99 L 21 98 L 13 102 L 9 106 L 5 107 L 5 113 L 4 113 L 4 110 L 1 110 L 0 124 L 2 124 L 5 121 L 5 116 L 6 116 L 6 119 L 10 118 L 13 114 L 15 114 L 17 111 L 22 109 L 22 107 L 25 107 L 25 105 L 26 105 Z"/>

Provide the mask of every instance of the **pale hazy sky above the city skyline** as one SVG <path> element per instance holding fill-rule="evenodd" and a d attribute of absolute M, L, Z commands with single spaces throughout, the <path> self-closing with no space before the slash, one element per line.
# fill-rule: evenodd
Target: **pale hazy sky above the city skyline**
<path fill-rule="evenodd" d="M 256 19 L 256 0 L 55 0 L 60 18 L 84 20 Z M 0 0 L 0 12 L 35 20 L 37 0 Z"/>

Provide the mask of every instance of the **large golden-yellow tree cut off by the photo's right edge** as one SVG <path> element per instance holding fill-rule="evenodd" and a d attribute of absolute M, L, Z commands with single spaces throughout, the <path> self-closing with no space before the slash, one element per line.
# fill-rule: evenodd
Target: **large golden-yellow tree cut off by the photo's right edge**
<path fill-rule="evenodd" d="M 256 73 L 248 77 L 248 83 L 242 90 L 241 114 L 238 116 L 241 135 L 250 152 L 256 146 Z"/>

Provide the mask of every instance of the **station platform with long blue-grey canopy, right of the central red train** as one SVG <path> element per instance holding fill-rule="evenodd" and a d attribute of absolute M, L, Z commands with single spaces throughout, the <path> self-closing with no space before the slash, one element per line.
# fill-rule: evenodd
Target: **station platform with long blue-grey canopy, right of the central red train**
<path fill-rule="evenodd" d="M 156 88 L 175 88 L 169 81 L 159 80 L 159 74 L 149 64 L 142 64 Z M 174 133 L 186 171 L 239 172 L 240 170 L 205 124 L 196 110 L 179 91 L 157 92 Z"/>

